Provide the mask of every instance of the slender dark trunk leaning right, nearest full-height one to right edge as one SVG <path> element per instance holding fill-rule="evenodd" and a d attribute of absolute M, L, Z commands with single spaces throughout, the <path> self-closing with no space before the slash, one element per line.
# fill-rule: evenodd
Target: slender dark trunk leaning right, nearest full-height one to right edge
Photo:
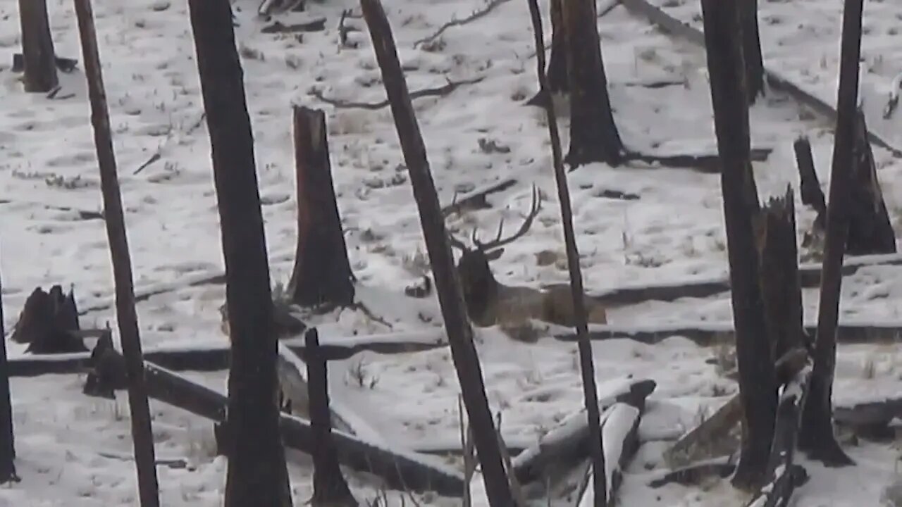
<path fill-rule="evenodd" d="M 842 13 L 840 86 L 836 100 L 836 134 L 827 204 L 827 235 L 817 315 L 815 365 L 802 412 L 799 447 L 831 466 L 851 465 L 833 435 L 833 372 L 836 325 L 842 288 L 842 255 L 849 235 L 849 189 L 855 164 L 855 123 L 861 57 L 861 14 L 864 0 L 846 0 Z"/>

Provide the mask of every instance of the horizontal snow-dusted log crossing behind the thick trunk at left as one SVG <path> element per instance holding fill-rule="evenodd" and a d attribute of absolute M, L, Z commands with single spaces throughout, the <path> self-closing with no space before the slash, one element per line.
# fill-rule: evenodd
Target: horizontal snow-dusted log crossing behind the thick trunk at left
<path fill-rule="evenodd" d="M 303 338 L 286 338 L 280 342 L 289 347 L 301 360 L 304 358 Z M 418 332 L 332 337 L 320 344 L 328 361 L 341 361 L 364 351 L 376 354 L 407 354 L 446 346 L 441 328 Z M 174 371 L 217 372 L 228 369 L 229 348 L 222 345 L 192 347 L 148 347 L 144 359 Z M 90 353 L 56 355 L 21 355 L 9 360 L 11 377 L 33 377 L 52 373 L 84 373 L 90 368 Z"/>

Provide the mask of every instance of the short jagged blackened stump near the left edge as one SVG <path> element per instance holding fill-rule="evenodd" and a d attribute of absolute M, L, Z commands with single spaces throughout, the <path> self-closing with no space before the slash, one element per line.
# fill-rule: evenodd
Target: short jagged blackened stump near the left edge
<path fill-rule="evenodd" d="M 36 287 L 25 300 L 11 339 L 28 344 L 25 352 L 32 354 L 87 352 L 78 331 L 75 291 L 69 290 L 66 295 L 60 285 L 51 287 L 50 292 Z"/>

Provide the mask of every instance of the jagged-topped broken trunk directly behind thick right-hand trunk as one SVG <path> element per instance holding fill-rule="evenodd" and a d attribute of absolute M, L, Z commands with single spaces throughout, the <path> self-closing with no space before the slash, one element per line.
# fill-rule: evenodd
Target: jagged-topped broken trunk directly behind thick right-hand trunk
<path fill-rule="evenodd" d="M 792 189 L 772 198 L 755 220 L 761 295 L 768 325 L 771 358 L 806 348 L 802 287 L 796 249 L 796 207 Z"/>

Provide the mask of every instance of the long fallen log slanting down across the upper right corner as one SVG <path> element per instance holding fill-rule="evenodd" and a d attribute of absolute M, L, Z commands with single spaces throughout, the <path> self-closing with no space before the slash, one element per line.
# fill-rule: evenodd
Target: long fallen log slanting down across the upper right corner
<path fill-rule="evenodd" d="M 704 34 L 683 23 L 671 15 L 665 13 L 655 5 L 649 4 L 646 0 L 621 0 L 621 5 L 627 8 L 632 14 L 645 17 L 652 24 L 658 26 L 663 32 L 667 32 L 676 38 L 683 39 L 694 43 L 696 46 L 704 47 Z M 774 69 L 764 69 L 765 79 L 768 81 L 770 88 L 782 91 L 788 96 L 793 97 L 797 102 L 809 109 L 815 111 L 818 115 L 824 116 L 824 119 L 836 123 L 836 108 L 819 97 L 806 92 L 804 89 L 793 83 L 789 78 Z M 902 150 L 899 150 L 892 144 L 885 141 L 891 139 L 890 136 L 878 134 L 873 130 L 868 133 L 871 143 L 877 144 L 891 152 L 894 156 L 902 156 Z"/>

